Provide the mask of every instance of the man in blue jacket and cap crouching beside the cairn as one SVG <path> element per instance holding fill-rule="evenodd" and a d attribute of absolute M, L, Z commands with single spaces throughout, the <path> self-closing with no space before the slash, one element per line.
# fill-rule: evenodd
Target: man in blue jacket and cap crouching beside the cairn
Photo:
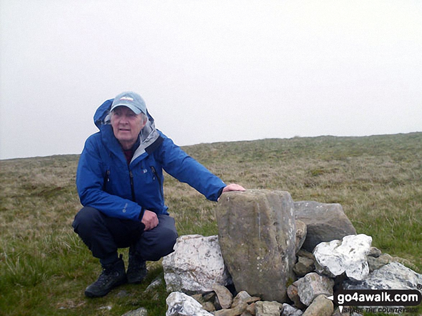
<path fill-rule="evenodd" d="M 163 169 L 211 201 L 244 190 L 226 185 L 157 130 L 137 93 L 105 101 L 94 122 L 99 132 L 86 140 L 76 173 L 84 207 L 72 224 L 103 268 L 86 288 L 88 297 L 104 296 L 125 282 L 140 283 L 145 261 L 173 251 L 178 235 L 164 204 Z M 127 271 L 117 248 L 129 248 Z"/>

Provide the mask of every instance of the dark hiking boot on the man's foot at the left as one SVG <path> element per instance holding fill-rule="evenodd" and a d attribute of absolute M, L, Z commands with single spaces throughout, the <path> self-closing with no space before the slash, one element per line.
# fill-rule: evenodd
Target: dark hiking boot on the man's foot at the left
<path fill-rule="evenodd" d="M 85 290 L 88 297 L 101 297 L 109 293 L 113 288 L 126 283 L 124 262 L 122 255 L 112 264 L 103 266 L 103 271 L 98 279 Z"/>

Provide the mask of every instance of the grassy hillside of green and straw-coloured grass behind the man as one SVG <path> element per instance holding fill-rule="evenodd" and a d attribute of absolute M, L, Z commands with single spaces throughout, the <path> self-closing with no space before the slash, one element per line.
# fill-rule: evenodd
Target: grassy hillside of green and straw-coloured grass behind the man
<path fill-rule="evenodd" d="M 295 201 L 341 203 L 357 232 L 373 237 L 373 246 L 422 272 L 422 133 L 183 149 L 226 183 L 285 190 Z M 163 278 L 160 263 L 148 263 L 141 285 L 84 297 L 100 267 L 71 228 L 81 207 L 77 161 L 77 155 L 0 160 L 0 315 L 122 315 L 141 306 L 148 315 L 164 315 L 165 286 L 143 293 L 154 278 Z M 164 186 L 180 235 L 217 233 L 215 203 L 168 175 Z"/>

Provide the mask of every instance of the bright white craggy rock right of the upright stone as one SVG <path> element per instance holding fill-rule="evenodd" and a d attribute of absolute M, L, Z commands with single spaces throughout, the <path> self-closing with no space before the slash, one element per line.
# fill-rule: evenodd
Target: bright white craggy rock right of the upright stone
<path fill-rule="evenodd" d="M 327 268 L 333 275 L 346 275 L 362 280 L 369 273 L 367 254 L 371 248 L 372 237 L 359 234 L 345 236 L 341 241 L 333 240 L 320 243 L 313 251 L 317 263 Z M 316 265 L 318 272 L 320 267 Z"/>

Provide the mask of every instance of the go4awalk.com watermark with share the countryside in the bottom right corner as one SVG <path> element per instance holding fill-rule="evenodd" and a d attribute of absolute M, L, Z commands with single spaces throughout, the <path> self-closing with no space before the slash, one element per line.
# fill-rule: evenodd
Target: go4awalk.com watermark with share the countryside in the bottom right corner
<path fill-rule="evenodd" d="M 419 313 L 422 294 L 418 290 L 342 290 L 327 297 L 340 313 Z"/>

